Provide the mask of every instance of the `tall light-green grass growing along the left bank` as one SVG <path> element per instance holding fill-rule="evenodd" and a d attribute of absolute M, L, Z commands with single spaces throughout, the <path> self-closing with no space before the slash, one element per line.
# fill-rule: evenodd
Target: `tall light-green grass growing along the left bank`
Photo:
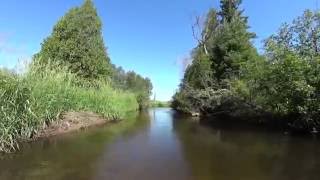
<path fill-rule="evenodd" d="M 0 108 L 0 151 L 11 152 L 63 112 L 92 111 L 121 119 L 138 103 L 134 94 L 105 80 L 88 82 L 64 68 L 33 65 L 21 76 L 0 71 Z"/>

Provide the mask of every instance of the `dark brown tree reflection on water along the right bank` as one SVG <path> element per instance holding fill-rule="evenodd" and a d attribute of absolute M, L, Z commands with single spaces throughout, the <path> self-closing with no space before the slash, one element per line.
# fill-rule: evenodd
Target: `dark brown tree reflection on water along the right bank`
<path fill-rule="evenodd" d="M 318 179 L 319 142 L 253 129 L 208 128 L 174 116 L 195 179 Z M 231 126 L 231 125 L 230 125 Z"/>

